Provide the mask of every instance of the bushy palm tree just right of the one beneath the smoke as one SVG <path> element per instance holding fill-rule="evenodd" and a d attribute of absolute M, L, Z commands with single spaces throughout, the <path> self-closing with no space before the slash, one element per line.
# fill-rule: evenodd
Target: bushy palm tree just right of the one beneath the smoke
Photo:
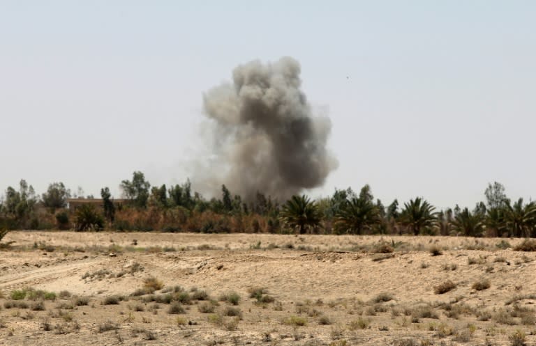
<path fill-rule="evenodd" d="M 345 200 L 335 218 L 335 228 L 339 233 L 362 234 L 380 222 L 378 207 L 368 198 L 353 197 Z"/>

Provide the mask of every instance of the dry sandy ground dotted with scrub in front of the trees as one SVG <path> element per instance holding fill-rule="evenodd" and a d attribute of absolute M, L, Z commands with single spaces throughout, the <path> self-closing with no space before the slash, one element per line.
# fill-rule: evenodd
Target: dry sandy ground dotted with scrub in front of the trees
<path fill-rule="evenodd" d="M 521 241 L 11 232 L 0 345 L 535 345 Z"/>

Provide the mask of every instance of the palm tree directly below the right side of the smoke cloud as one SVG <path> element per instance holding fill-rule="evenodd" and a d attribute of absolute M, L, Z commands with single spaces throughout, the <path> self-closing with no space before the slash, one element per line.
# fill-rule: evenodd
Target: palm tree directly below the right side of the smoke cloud
<path fill-rule="evenodd" d="M 280 215 L 284 223 L 291 228 L 297 228 L 300 234 L 320 223 L 317 205 L 305 195 L 292 196 L 281 208 Z"/>

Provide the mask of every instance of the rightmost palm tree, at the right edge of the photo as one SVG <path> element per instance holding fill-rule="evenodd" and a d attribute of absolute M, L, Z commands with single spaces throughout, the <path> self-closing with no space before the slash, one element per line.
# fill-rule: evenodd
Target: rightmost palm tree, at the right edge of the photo
<path fill-rule="evenodd" d="M 519 198 L 511 205 L 507 200 L 505 222 L 507 228 L 513 231 L 515 237 L 530 237 L 536 225 L 536 204 L 530 202 L 523 205 L 523 198 Z"/>

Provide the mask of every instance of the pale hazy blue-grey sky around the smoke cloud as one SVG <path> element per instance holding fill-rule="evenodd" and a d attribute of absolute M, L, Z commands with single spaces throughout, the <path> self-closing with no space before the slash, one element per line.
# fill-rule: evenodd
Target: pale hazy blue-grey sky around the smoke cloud
<path fill-rule="evenodd" d="M 140 170 L 183 182 L 202 94 L 292 56 L 332 119 L 339 166 L 313 196 L 472 207 L 536 196 L 536 1 L 0 0 L 0 189 L 98 196 Z"/>

